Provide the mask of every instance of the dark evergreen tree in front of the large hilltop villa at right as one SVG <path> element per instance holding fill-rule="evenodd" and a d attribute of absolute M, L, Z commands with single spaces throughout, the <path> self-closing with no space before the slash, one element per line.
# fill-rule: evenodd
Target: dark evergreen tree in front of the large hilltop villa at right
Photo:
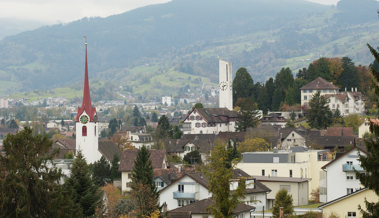
<path fill-rule="evenodd" d="M 324 96 L 317 92 L 309 101 L 308 124 L 311 128 L 326 129 L 330 125 L 332 112 Z"/>

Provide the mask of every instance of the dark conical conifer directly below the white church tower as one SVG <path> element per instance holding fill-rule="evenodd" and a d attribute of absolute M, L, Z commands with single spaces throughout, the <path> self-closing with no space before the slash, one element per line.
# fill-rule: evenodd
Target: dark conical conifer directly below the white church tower
<path fill-rule="evenodd" d="M 66 189 L 73 189 L 72 199 L 80 206 L 84 216 L 92 216 L 96 208 L 102 205 L 101 192 L 91 178 L 91 171 L 81 151 L 71 165 L 71 175 L 66 179 Z"/>

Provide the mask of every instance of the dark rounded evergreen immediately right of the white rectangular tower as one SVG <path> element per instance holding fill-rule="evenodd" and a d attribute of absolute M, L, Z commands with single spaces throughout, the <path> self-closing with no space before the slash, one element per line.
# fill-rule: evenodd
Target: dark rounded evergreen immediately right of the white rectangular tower
<path fill-rule="evenodd" d="M 238 98 L 249 98 L 253 94 L 254 81 L 246 68 L 241 67 L 236 72 L 236 77 L 233 80 L 233 105 Z"/>

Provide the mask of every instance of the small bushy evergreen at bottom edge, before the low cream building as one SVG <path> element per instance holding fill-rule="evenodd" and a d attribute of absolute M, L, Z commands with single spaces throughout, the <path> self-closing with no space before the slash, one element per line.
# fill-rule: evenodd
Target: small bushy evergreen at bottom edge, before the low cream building
<path fill-rule="evenodd" d="M 283 207 L 284 216 L 292 215 L 293 213 L 293 200 L 292 195 L 288 194 L 287 189 L 279 190 L 275 195 L 274 207 L 272 208 L 272 214 L 275 217 L 279 217 L 279 208 Z"/>

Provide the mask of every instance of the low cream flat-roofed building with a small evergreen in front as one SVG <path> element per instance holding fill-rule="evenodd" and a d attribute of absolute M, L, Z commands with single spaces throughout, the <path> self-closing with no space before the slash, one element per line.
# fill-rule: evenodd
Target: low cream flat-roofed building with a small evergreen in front
<path fill-rule="evenodd" d="M 292 195 L 293 206 L 308 205 L 309 202 L 309 181 L 310 178 L 276 177 L 276 176 L 255 176 L 257 181 L 271 189 L 267 195 L 267 207 L 274 206 L 276 193 L 280 189 L 286 189 Z"/>

